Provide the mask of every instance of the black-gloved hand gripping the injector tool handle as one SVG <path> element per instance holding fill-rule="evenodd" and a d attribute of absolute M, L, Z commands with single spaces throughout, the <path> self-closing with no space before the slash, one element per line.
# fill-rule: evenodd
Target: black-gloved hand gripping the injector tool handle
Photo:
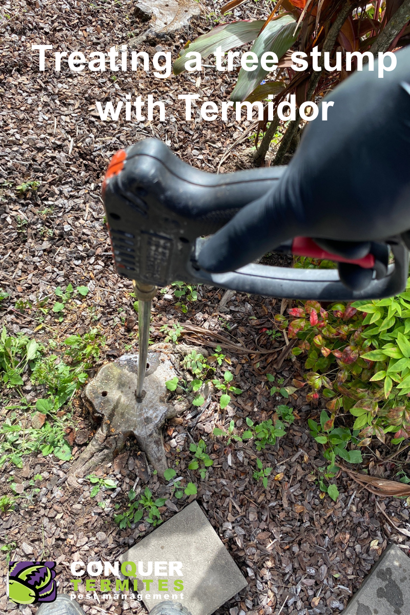
<path fill-rule="evenodd" d="M 240 268 L 297 236 L 329 252 L 361 258 L 370 242 L 410 229 L 410 48 L 378 77 L 365 66 L 338 85 L 328 121 L 307 125 L 280 185 L 246 205 L 199 254 L 206 271 Z M 342 264 L 339 275 L 360 290 L 372 270 Z M 370 276 L 370 277 L 369 277 Z"/>

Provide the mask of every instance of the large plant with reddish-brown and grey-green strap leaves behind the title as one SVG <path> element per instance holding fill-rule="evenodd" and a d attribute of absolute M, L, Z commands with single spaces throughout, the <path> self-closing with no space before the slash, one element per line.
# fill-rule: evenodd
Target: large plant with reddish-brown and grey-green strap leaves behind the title
<path fill-rule="evenodd" d="M 247 0 L 232 0 L 224 4 L 221 13 L 235 9 Z M 216 26 L 193 42 L 187 42 L 174 64 L 174 73 L 182 73 L 187 52 L 199 52 L 202 58 L 214 54 L 221 47 L 227 52 L 253 42 L 251 51 L 260 58 L 265 52 L 274 52 L 279 58 L 278 73 L 274 81 L 264 81 L 269 73 L 261 68 L 254 71 L 239 71 L 231 94 L 232 101 L 250 102 L 266 100 L 274 96 L 277 106 L 288 94 L 296 94 L 296 103 L 315 100 L 345 79 L 346 52 L 370 51 L 374 54 L 407 45 L 410 42 L 410 0 L 278 0 L 265 21 L 240 20 Z M 310 52 L 318 47 L 320 52 L 329 52 L 332 65 L 329 71 L 320 58 L 321 71 L 313 71 Z M 292 49 L 291 49 L 292 48 Z M 296 72 L 290 55 L 293 50 L 305 52 L 310 65 L 306 71 Z M 342 67 L 336 67 L 336 52 L 342 52 Z M 301 118 L 288 123 L 278 148 L 275 164 L 282 164 L 285 154 L 296 135 Z M 261 164 L 270 141 L 278 128 L 277 114 L 267 128 L 267 114 L 259 122 L 259 130 L 266 130 L 261 146 L 255 156 Z"/>

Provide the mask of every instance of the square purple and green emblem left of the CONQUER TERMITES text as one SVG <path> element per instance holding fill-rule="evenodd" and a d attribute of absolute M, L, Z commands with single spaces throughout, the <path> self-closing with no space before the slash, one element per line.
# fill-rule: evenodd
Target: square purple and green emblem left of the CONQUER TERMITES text
<path fill-rule="evenodd" d="M 17 605 L 53 602 L 57 597 L 55 561 L 10 561 L 9 599 Z"/>

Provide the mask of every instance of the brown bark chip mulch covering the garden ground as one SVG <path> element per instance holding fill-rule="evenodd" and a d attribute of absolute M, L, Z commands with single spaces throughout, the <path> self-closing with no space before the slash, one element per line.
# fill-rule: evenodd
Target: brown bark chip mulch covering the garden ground
<path fill-rule="evenodd" d="M 138 50 L 148 50 L 150 56 L 160 49 L 170 50 L 175 58 L 187 39 L 213 25 L 213 2 L 203 2 L 203 9 L 207 13 L 192 23 L 190 31 L 149 39 Z M 235 9 L 235 16 L 245 15 L 242 10 Z M 258 2 L 246 5 L 246 10 L 250 17 L 266 14 L 267 9 Z M 91 52 L 127 42 L 128 31 L 138 33 L 141 29 L 130 1 L 110 0 L 96 6 L 74 0 L 15 0 L 12 6 L 2 7 L 0 14 L 0 288 L 10 295 L 1 302 L 1 321 L 9 334 L 25 333 L 45 345 L 49 339 L 59 343 L 68 335 L 84 335 L 97 327 L 106 340 L 98 367 L 136 349 L 132 285 L 114 272 L 100 198 L 101 177 L 112 154 L 136 140 L 154 136 L 164 140 L 184 161 L 212 171 L 249 123 L 184 120 L 178 94 L 198 92 L 203 99 L 226 100 L 234 83 L 229 73 L 215 77 L 207 68 L 200 79 L 195 74 L 155 80 L 143 71 L 72 73 L 64 62 L 60 73 L 52 68 L 44 73 L 37 70 L 37 52 L 31 52 L 31 44 L 53 44 L 53 51 Z M 128 92 L 132 98 L 153 93 L 163 99 L 169 121 L 101 122 L 95 100 L 104 104 L 104 100 L 114 101 Z M 248 142 L 235 149 L 223 170 L 234 169 L 232 161 L 237 167 L 246 167 L 248 163 L 243 161 L 250 145 Z M 19 196 L 16 186 L 28 180 L 41 182 L 39 189 Z M 49 296 L 45 305 L 50 308 L 55 288 L 65 288 L 69 282 L 73 287 L 87 285 L 89 295 L 72 301 L 62 322 L 52 311 L 42 314 L 40 302 Z M 170 466 L 197 484 L 197 501 L 248 580 L 241 595 L 218 613 L 270 615 L 281 608 L 283 615 L 341 611 L 387 541 L 408 552 L 408 537 L 395 529 L 408 529 L 406 500 L 377 498 L 347 474 L 337 477 L 341 494 L 336 503 L 320 493 L 318 477 L 326 461 L 307 429 L 307 418 L 317 419 L 320 409 L 306 405 L 303 389 L 286 401 L 270 397 L 267 388 L 266 373 L 275 374 L 273 364 L 285 341 L 282 337 L 270 341 L 263 330 L 275 328 L 274 315 L 281 308 L 280 301 L 237 294 L 227 311 L 221 312 L 218 304 L 223 292 L 200 287 L 199 300 L 190 303 L 183 314 L 175 306 L 173 290 L 167 289 L 171 298 L 158 293 L 154 300 L 154 325 L 191 323 L 201 327 L 204 335 L 195 338 L 186 327 L 189 343 L 192 339 L 205 346 L 208 341 L 219 343 L 212 336 L 217 333 L 234 344 L 255 349 L 253 353 L 224 351 L 230 364 L 224 363 L 223 370 L 232 370 L 235 385 L 243 390 L 225 413 L 219 410 L 214 395 L 203 407 L 192 407 L 182 422 L 168 425 L 165 434 Z M 160 326 L 153 327 L 153 341 L 163 338 Z M 257 347 L 272 349 L 272 353 L 258 354 Z M 302 364 L 296 357 L 288 357 L 278 376 L 287 384 L 301 374 Z M 41 397 L 41 390 L 32 387 L 27 375 L 22 391 L 31 405 Z M 7 401 L 1 410 L 2 420 L 11 415 L 9 405 L 18 402 L 17 394 L 10 389 L 3 394 Z M 227 446 L 226 440 L 212 435 L 215 426 L 226 428 L 231 419 L 241 432 L 246 416 L 262 421 L 272 416 L 280 403 L 293 406 L 299 418 L 275 447 L 257 453 L 251 443 Z M 16 412 L 15 420 L 27 416 L 24 410 Z M 74 400 L 73 428 L 85 438 L 95 429 L 80 395 Z M 187 469 L 192 458 L 191 438 L 195 442 L 203 438 L 213 459 L 203 481 L 197 472 Z M 74 459 L 84 446 L 84 437 L 77 438 L 77 443 L 74 440 Z M 384 454 L 381 447 L 380 451 L 367 449 L 364 453 L 370 474 L 385 478 L 395 475 L 396 460 L 380 462 Z M 253 479 L 257 455 L 264 465 L 272 467 L 267 490 Z M 101 491 L 95 498 L 90 498 L 87 480 L 79 487 L 70 485 L 70 462 L 37 453 L 25 457 L 22 469 L 6 462 L 0 469 L 0 494 L 12 493 L 10 481 L 17 485 L 18 494 L 15 510 L 2 514 L 0 524 L 0 541 L 11 546 L 10 557 L 56 559 L 59 591 L 72 587 L 71 561 L 116 560 L 151 531 L 146 522 L 119 530 L 113 520 L 115 504 L 122 510 L 136 479 L 136 491 L 145 486 L 146 474 L 140 472 L 139 457 L 135 443 L 129 442 L 127 450 L 104 469 L 118 481 L 117 490 Z M 400 463 L 406 454 L 401 458 Z M 42 480 L 34 482 L 39 474 Z M 169 495 L 155 475 L 147 484 L 157 496 Z M 170 518 L 192 497 L 168 500 L 161 509 L 162 518 Z M 104 508 L 98 506 L 99 501 L 106 502 Z M 376 501 L 394 525 L 389 525 Z M 3 563 L 2 581 L 7 573 L 6 558 Z M 132 600 L 103 606 L 109 613 L 145 612 Z M 90 615 L 101 613 L 103 606 L 95 601 L 83 603 Z M 0 610 L 8 615 L 36 613 L 36 607 L 16 609 L 7 603 L 3 583 Z"/>

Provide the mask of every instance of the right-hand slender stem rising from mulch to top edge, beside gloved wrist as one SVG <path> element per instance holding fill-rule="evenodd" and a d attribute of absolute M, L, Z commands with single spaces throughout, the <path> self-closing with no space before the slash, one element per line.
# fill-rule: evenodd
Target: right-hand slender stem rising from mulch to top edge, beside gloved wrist
<path fill-rule="evenodd" d="M 407 0 L 407 1 L 410 2 L 410 0 Z M 321 68 L 323 68 L 324 52 L 326 51 L 328 51 L 329 53 L 331 52 L 331 50 L 334 47 L 334 44 L 336 43 L 337 35 L 339 34 L 339 31 L 342 25 L 346 21 L 347 17 L 349 17 L 349 15 L 352 13 L 352 10 L 357 6 L 357 4 L 358 4 L 357 2 L 346 2 L 345 6 L 337 14 L 336 20 L 334 20 L 333 25 L 330 28 L 328 36 L 326 37 L 326 40 L 323 43 L 323 47 L 321 49 L 322 55 L 320 57 L 320 63 L 319 63 Z M 306 100 L 312 99 L 313 93 L 315 92 L 320 76 L 321 76 L 321 71 L 313 71 L 312 75 L 310 76 L 309 84 L 307 86 Z M 296 131 L 298 130 L 300 122 L 301 122 L 301 117 L 299 116 L 299 109 L 298 109 L 298 117 L 296 117 L 296 119 L 290 122 L 290 124 L 288 125 L 288 128 L 286 129 L 285 134 L 282 137 L 282 140 L 280 141 L 280 146 L 279 146 L 279 149 L 277 151 L 275 161 L 274 161 L 275 165 L 283 164 L 283 160 L 285 159 L 286 153 L 290 147 L 290 144 L 291 144 L 291 141 L 294 135 L 296 135 Z"/>

